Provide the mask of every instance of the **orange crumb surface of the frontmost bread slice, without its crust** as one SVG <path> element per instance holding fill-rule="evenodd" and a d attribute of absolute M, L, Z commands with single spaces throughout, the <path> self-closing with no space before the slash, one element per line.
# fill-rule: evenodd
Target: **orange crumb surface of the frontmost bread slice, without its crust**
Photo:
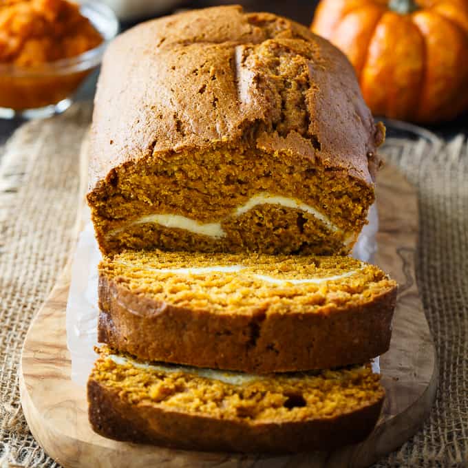
<path fill-rule="evenodd" d="M 112 350 L 104 347 L 100 352 L 89 379 L 118 392 L 123 401 L 211 418 L 257 423 L 334 418 L 372 405 L 384 396 L 380 376 L 369 364 L 266 376 L 222 371 L 213 374 L 237 382 L 231 383 L 206 377 L 206 370 L 171 369 L 158 363 L 145 368 L 145 363 L 134 365 L 122 354 L 116 357 L 116 363 L 109 357 Z"/>

